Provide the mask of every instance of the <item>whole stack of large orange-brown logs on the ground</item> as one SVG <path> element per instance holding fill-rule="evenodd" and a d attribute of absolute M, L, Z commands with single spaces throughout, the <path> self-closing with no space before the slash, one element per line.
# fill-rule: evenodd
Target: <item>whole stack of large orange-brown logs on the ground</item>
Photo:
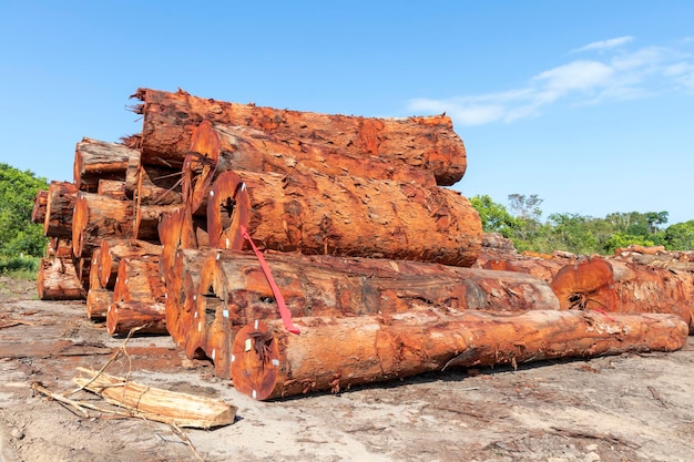
<path fill-rule="evenodd" d="M 78 143 L 32 216 L 40 298 L 85 299 L 111 335 L 171 335 L 256 399 L 685 341 L 687 269 L 483 236 L 445 187 L 467 167 L 445 115 L 133 96 L 142 133 Z"/>

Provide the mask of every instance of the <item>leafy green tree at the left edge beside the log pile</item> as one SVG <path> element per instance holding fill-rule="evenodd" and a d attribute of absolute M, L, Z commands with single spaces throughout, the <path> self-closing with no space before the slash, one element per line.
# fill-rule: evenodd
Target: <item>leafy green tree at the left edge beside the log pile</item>
<path fill-rule="evenodd" d="M 31 212 L 37 192 L 47 188 L 45 178 L 31 171 L 0 164 L 0 255 L 43 254 L 43 227 L 31 223 Z"/>

